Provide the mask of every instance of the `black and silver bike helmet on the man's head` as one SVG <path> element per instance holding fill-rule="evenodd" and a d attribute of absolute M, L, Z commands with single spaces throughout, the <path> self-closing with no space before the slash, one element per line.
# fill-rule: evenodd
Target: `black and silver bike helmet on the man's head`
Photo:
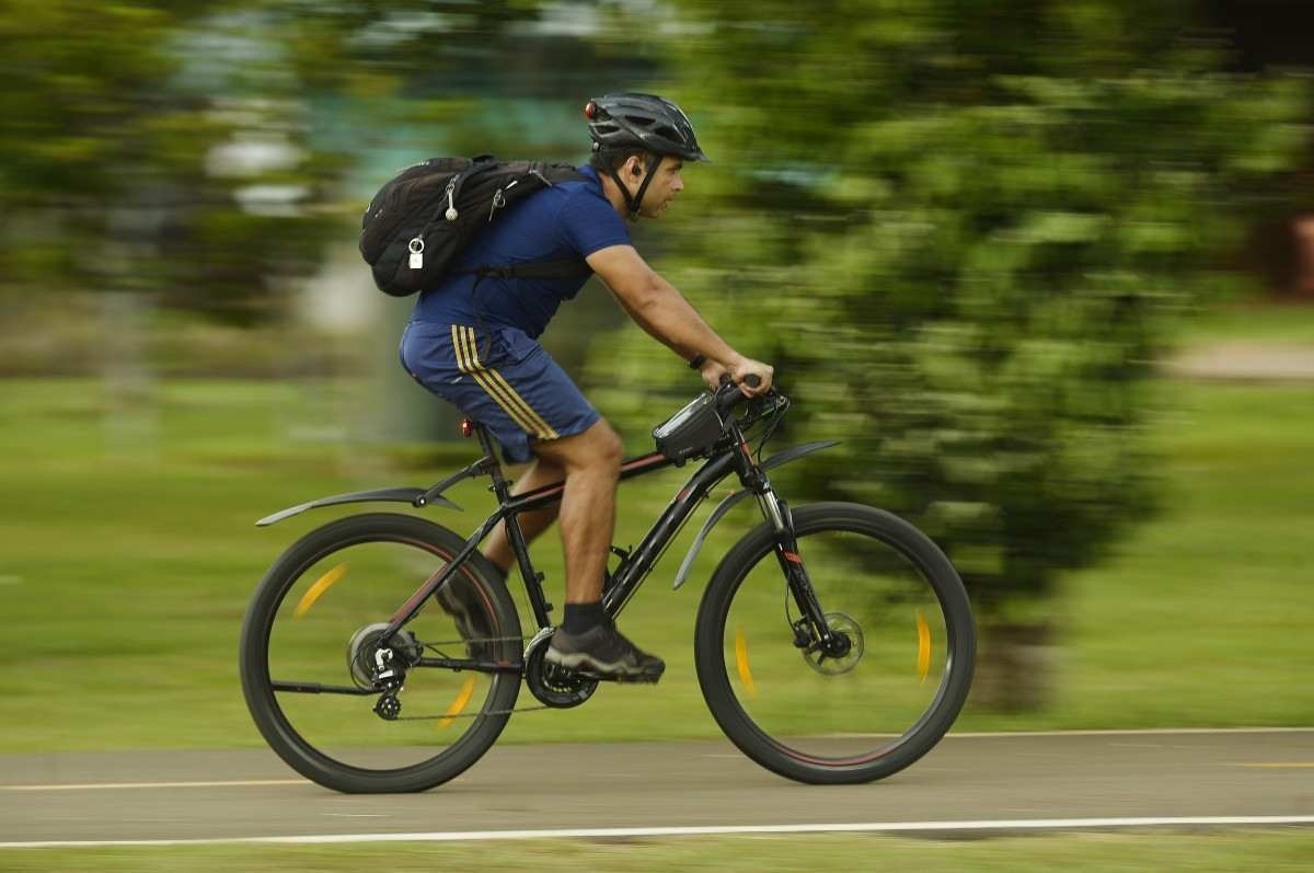
<path fill-rule="evenodd" d="M 707 160 L 689 116 L 650 93 L 608 93 L 585 104 L 594 151 L 643 149 L 654 155 Z"/>

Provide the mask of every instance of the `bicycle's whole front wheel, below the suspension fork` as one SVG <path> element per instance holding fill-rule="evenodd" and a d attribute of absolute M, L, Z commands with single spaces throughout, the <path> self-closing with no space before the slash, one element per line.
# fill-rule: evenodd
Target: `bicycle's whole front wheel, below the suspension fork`
<path fill-rule="evenodd" d="M 845 640 L 823 653 L 762 525 L 721 560 L 695 634 L 698 680 L 725 735 L 800 782 L 884 778 L 925 755 L 967 697 L 976 632 L 962 580 L 916 527 L 857 504 L 794 511 L 799 556 Z"/>

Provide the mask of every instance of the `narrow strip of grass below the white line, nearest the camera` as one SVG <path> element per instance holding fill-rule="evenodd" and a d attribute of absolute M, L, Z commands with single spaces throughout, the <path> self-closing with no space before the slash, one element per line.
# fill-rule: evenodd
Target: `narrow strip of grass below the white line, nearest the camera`
<path fill-rule="evenodd" d="M 1314 832 L 1227 831 L 912 840 L 859 835 L 706 836 L 608 841 L 388 843 L 347 845 L 185 845 L 160 848 L 0 849 L 5 870 L 911 870 L 1007 873 L 1156 870 L 1277 873 L 1309 869 Z"/>

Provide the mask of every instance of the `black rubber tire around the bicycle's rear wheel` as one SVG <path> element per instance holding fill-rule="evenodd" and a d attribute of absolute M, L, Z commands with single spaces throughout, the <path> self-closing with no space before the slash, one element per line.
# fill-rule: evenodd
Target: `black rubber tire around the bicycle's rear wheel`
<path fill-rule="evenodd" d="M 350 794 L 422 791 L 465 772 L 502 732 L 520 686 L 518 674 L 489 674 L 490 692 L 464 734 L 432 757 L 406 767 L 376 769 L 344 763 L 304 736 L 304 728 L 298 730 L 289 722 L 279 701 L 279 694 L 285 692 L 273 689 L 269 674 L 271 635 L 280 605 L 307 568 L 353 546 L 377 543 L 417 547 L 442 560 L 449 560 L 465 546 L 461 536 L 445 527 L 394 513 L 352 515 L 318 527 L 284 551 L 260 581 L 242 623 L 239 647 L 243 696 L 265 742 L 279 757 L 306 778 Z M 464 571 L 469 571 L 466 578 L 477 585 L 485 602 L 490 605 L 491 627 L 497 628 L 498 638 L 503 640 L 493 643 L 497 646 L 494 656 L 519 663 L 520 622 L 499 573 L 478 552 L 466 560 Z M 394 603 L 393 607 L 399 605 Z M 388 615 L 367 615 L 361 619 L 386 621 Z M 368 710 L 361 717 L 377 718 Z M 419 753 L 427 755 L 427 748 Z"/>

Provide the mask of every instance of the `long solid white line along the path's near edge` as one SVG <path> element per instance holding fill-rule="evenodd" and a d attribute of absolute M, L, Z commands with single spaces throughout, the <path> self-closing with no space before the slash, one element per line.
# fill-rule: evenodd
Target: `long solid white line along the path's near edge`
<path fill-rule="evenodd" d="M 735 836 L 746 834 L 913 834 L 921 831 L 1051 831 L 1126 827 L 1226 827 L 1314 824 L 1314 815 L 1201 815 L 1162 818 L 999 819 L 968 822 L 866 822 L 838 824 L 727 824 L 721 827 L 593 827 L 541 831 L 452 831 L 420 834 L 319 834 L 238 836 L 213 840 L 33 840 L 0 843 L 0 849 L 105 848 L 129 845 L 457 843 L 468 840 L 561 840 L 643 836 Z"/>

